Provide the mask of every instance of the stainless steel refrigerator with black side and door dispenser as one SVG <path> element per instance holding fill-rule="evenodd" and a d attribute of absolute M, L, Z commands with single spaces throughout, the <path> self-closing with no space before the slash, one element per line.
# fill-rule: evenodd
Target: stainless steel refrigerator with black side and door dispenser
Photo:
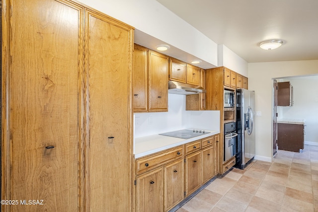
<path fill-rule="evenodd" d="M 244 169 L 255 156 L 255 91 L 236 90 L 238 144 L 236 167 Z"/>

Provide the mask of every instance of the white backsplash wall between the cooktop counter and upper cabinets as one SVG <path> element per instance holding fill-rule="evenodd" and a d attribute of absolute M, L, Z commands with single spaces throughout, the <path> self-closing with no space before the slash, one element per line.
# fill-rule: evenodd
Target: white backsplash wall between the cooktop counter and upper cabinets
<path fill-rule="evenodd" d="M 220 131 L 220 111 L 186 111 L 185 95 L 168 94 L 168 112 L 135 113 L 134 138 L 181 129 Z"/>

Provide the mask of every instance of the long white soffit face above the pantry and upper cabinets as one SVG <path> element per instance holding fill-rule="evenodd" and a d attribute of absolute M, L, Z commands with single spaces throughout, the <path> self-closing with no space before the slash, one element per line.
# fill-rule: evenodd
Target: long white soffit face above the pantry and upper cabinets
<path fill-rule="evenodd" d="M 217 66 L 217 44 L 156 0 L 79 0 L 79 2 Z"/>

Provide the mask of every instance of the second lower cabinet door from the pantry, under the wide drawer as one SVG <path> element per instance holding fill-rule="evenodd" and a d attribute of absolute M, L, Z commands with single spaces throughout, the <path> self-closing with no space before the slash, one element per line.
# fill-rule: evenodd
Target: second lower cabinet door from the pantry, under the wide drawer
<path fill-rule="evenodd" d="M 183 200 L 183 159 L 164 166 L 164 211 Z"/>

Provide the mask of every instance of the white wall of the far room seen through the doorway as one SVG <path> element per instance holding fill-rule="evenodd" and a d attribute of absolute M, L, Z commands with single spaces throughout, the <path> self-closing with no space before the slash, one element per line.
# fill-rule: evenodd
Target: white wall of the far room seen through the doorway
<path fill-rule="evenodd" d="M 284 78 L 294 87 L 294 105 L 277 107 L 278 118 L 305 119 L 305 143 L 318 145 L 318 75 Z"/>

